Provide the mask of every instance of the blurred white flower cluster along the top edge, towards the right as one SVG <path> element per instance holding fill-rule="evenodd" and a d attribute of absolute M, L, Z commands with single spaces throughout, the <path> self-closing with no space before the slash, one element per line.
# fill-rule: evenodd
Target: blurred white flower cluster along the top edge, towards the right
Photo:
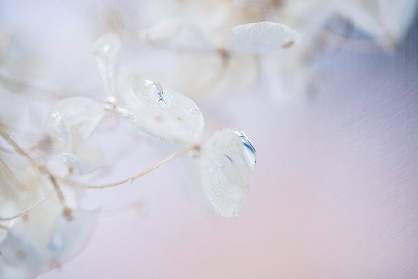
<path fill-rule="evenodd" d="M 207 86 L 210 73 L 219 73 L 212 75 L 217 87 L 225 85 L 219 85 L 221 81 L 226 83 L 223 91 L 240 84 L 249 87 L 261 76 L 275 99 L 289 101 L 304 99 L 317 66 L 311 58 L 328 45 L 363 51 L 397 48 L 413 22 L 418 1 L 219 0 L 211 2 L 211 7 L 194 1 L 193 9 L 189 3 L 179 4 L 178 9 L 168 3 L 143 5 L 151 16 L 140 37 L 153 48 L 173 51 L 173 61 L 188 65 L 173 75 L 174 81 L 168 78 L 177 88 L 198 94 L 202 91 L 195 88 L 199 83 Z M 156 20 L 158 14 L 164 14 L 164 19 Z M 242 24 L 249 21 L 255 23 Z M 364 38 L 351 38 L 351 26 Z M 209 65 L 209 73 L 198 71 L 202 62 Z M 144 71 L 160 78 L 151 68 Z M 195 77 L 193 84 L 182 78 L 190 74 Z"/>

